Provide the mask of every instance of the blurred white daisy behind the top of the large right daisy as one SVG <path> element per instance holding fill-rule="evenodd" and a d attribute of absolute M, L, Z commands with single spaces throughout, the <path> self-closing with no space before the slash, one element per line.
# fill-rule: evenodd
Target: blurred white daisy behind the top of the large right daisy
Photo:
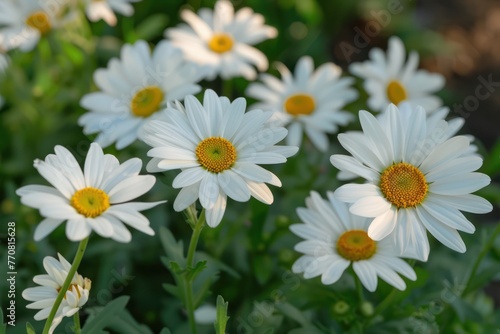
<path fill-rule="evenodd" d="M 418 53 L 410 52 L 405 64 L 405 48 L 401 39 L 389 39 L 387 56 L 379 48 L 370 50 L 370 60 L 354 63 L 349 71 L 364 80 L 370 109 L 383 111 L 390 103 L 408 101 L 413 107 L 422 106 L 433 112 L 441 106 L 439 97 L 431 95 L 444 86 L 444 77 L 437 73 L 417 70 Z"/>

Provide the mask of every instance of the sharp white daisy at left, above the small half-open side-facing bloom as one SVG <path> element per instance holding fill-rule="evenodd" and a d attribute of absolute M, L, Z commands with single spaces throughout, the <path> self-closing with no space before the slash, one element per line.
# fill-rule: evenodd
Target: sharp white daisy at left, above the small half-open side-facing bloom
<path fill-rule="evenodd" d="M 133 158 L 120 164 L 115 156 L 103 154 L 92 143 L 82 169 L 64 147 L 56 146 L 55 155 L 45 161 L 35 160 L 35 168 L 53 187 L 24 186 L 16 191 L 21 203 L 39 209 L 45 219 L 35 230 L 35 240 L 50 234 L 64 221 L 69 240 L 79 241 L 95 231 L 102 237 L 129 242 L 125 224 L 148 235 L 154 235 L 149 221 L 139 211 L 162 202 L 128 202 L 150 190 L 155 177 L 139 175 L 142 161 Z"/>

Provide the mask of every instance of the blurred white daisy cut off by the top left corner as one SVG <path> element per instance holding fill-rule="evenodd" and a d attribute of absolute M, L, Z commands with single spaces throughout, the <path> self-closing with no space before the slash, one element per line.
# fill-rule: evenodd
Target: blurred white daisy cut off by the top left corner
<path fill-rule="evenodd" d="M 64 4 L 52 0 L 0 1 L 0 45 L 7 50 L 31 51 L 40 38 L 57 27 Z"/>

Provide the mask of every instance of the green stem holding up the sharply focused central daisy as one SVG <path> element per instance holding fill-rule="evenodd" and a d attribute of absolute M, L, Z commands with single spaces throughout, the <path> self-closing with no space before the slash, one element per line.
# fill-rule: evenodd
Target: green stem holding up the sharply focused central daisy
<path fill-rule="evenodd" d="M 188 209 L 189 210 L 189 209 Z M 200 239 L 201 230 L 205 226 L 205 210 L 201 211 L 200 217 L 196 219 L 196 215 L 192 215 L 188 212 L 188 220 L 191 220 L 189 225 L 193 227 L 193 235 L 189 242 L 187 260 L 186 260 L 186 274 L 183 276 L 185 280 L 185 296 L 186 296 L 186 310 L 188 313 L 189 328 L 191 329 L 191 334 L 196 334 L 196 321 L 194 319 L 194 300 L 193 300 L 193 279 L 189 277 L 189 271 L 193 269 L 194 265 L 194 255 L 196 253 L 196 246 L 198 245 L 198 240 Z"/>

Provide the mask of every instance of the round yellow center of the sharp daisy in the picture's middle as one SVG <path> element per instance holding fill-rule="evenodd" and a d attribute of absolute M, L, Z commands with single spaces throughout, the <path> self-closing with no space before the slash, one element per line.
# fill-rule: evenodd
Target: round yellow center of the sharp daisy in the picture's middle
<path fill-rule="evenodd" d="M 236 149 L 233 144 L 221 137 L 203 139 L 196 147 L 196 157 L 200 165 L 212 173 L 220 173 L 236 161 Z"/>

